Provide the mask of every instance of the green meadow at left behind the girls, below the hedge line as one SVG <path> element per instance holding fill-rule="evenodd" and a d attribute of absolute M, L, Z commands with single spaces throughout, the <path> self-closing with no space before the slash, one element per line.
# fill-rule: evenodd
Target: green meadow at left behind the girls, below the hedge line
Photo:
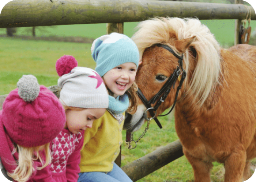
<path fill-rule="evenodd" d="M 90 44 L 33 41 L 0 38 L 0 95 L 16 88 L 23 74 L 33 74 L 39 84 L 57 84 L 55 63 L 63 55 L 72 55 L 78 66 L 95 68 Z"/>

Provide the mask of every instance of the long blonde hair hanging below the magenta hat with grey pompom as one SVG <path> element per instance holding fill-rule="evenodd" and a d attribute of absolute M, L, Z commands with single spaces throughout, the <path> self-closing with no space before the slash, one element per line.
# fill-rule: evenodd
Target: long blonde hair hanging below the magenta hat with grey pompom
<path fill-rule="evenodd" d="M 35 168 L 33 167 L 34 161 L 38 160 L 41 162 L 42 167 L 36 167 L 37 170 L 41 170 L 51 162 L 50 143 L 44 145 L 45 150 L 45 161 L 43 160 L 41 153 L 41 146 L 38 147 L 22 147 L 15 145 L 12 154 L 18 152 L 19 158 L 17 161 L 17 167 L 13 173 L 7 172 L 7 174 L 18 182 L 26 182 L 29 180 Z"/>

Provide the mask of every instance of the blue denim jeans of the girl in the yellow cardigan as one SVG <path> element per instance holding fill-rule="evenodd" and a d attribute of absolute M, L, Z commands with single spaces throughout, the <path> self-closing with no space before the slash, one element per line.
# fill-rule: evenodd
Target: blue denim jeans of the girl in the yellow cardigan
<path fill-rule="evenodd" d="M 87 172 L 79 173 L 78 182 L 132 182 L 124 171 L 114 163 L 109 173 Z"/>

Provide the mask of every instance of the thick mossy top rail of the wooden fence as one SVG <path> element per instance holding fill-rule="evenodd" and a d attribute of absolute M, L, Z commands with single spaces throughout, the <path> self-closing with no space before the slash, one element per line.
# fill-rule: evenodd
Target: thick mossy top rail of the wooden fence
<path fill-rule="evenodd" d="M 253 7 L 242 4 L 157 0 L 15 0 L 0 13 L 0 28 L 45 25 L 120 23 L 155 16 L 256 20 Z M 249 17 L 249 16 L 248 16 Z"/>

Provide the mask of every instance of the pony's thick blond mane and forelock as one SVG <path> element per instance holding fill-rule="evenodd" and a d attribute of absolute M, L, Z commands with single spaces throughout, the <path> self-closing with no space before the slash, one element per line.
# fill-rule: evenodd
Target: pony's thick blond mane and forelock
<path fill-rule="evenodd" d="M 139 23 L 138 31 L 132 36 L 132 40 L 138 46 L 140 58 L 146 48 L 157 43 L 168 44 L 174 50 L 173 40 L 170 32 L 175 32 L 178 40 L 196 36 L 196 40 L 191 44 L 197 52 L 197 65 L 192 75 L 190 87 L 186 93 L 193 94 L 195 99 L 202 105 L 210 94 L 212 88 L 219 83 L 221 74 L 220 46 L 214 35 L 206 25 L 201 24 L 194 18 L 153 18 Z M 177 50 L 176 50 L 177 51 Z M 188 72 L 189 59 L 188 50 L 184 52 L 185 70 Z M 186 83 L 187 84 L 187 83 Z M 185 94 L 186 94 L 185 93 Z"/>

